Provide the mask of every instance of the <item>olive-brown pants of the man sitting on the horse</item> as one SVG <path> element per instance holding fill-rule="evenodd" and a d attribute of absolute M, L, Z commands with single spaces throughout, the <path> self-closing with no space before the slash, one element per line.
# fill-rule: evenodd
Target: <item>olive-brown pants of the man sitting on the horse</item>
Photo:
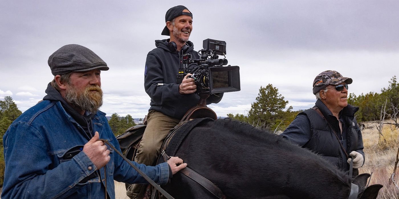
<path fill-rule="evenodd" d="M 147 114 L 147 127 L 140 141 L 134 161 L 139 164 L 154 166 L 164 139 L 170 129 L 175 127 L 179 122 L 179 119 L 166 116 L 161 112 L 149 111 Z M 132 199 L 136 199 L 141 189 L 145 189 L 146 187 L 147 185 L 143 184 L 132 184 L 128 187 L 126 195 Z"/>

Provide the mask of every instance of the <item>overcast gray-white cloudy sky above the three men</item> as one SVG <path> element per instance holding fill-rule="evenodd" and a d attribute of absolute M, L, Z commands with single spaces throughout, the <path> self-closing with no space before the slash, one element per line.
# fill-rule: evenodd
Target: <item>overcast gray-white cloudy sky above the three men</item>
<path fill-rule="evenodd" d="M 209 105 L 218 116 L 247 114 L 261 86 L 279 89 L 294 110 L 316 101 L 314 77 L 337 70 L 349 92 L 380 92 L 399 75 L 399 1 L 0 1 L 0 100 L 26 111 L 53 79 L 47 59 L 66 44 L 88 47 L 107 62 L 100 108 L 143 118 L 146 55 L 165 26 L 166 11 L 193 14 L 190 41 L 226 41 L 240 66 L 241 91 Z"/>

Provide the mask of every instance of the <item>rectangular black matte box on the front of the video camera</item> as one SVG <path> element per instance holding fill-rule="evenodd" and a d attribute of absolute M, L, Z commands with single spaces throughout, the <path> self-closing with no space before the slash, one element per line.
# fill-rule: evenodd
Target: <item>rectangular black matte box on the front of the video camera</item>
<path fill-rule="evenodd" d="M 239 66 L 217 66 L 209 68 L 209 93 L 239 91 Z"/>

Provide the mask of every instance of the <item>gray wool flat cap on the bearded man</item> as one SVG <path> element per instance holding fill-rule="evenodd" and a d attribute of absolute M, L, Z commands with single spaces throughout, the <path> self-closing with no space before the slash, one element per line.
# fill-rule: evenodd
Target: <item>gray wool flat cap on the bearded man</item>
<path fill-rule="evenodd" d="M 77 44 L 68 44 L 55 51 L 50 55 L 48 64 L 53 75 L 109 69 L 107 63 L 93 51 Z"/>

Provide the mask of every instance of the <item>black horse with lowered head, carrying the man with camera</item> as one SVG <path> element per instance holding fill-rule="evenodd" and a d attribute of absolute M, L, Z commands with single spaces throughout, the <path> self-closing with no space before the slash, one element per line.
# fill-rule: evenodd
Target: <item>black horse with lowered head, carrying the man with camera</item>
<path fill-rule="evenodd" d="M 190 133 L 176 133 L 166 154 L 182 158 L 226 198 L 347 199 L 354 183 L 358 199 L 375 199 L 382 187 L 365 188 L 369 174 L 350 178 L 307 149 L 231 119 L 204 120 Z M 176 199 L 215 198 L 180 172 L 164 189 Z"/>

